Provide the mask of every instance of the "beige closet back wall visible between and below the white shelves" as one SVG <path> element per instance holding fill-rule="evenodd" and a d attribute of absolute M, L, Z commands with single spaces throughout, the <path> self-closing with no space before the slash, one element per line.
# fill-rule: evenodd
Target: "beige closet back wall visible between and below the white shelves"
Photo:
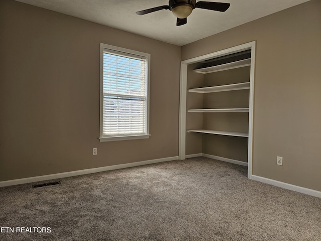
<path fill-rule="evenodd" d="M 204 86 L 217 86 L 250 81 L 250 66 L 204 74 Z M 222 91 L 204 95 L 204 108 L 248 108 L 249 89 Z M 203 128 L 248 133 L 249 112 L 204 113 Z M 203 135 L 203 153 L 247 162 L 248 138 Z"/>

